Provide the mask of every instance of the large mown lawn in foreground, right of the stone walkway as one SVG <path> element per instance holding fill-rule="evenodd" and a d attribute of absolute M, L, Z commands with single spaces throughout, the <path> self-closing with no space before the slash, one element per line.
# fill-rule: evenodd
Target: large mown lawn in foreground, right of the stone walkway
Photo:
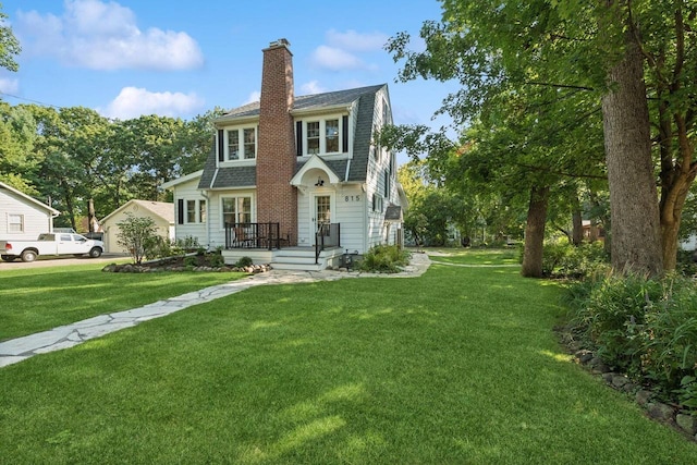
<path fill-rule="evenodd" d="M 0 369 L 0 463 L 688 464 L 515 268 L 249 289 Z"/>

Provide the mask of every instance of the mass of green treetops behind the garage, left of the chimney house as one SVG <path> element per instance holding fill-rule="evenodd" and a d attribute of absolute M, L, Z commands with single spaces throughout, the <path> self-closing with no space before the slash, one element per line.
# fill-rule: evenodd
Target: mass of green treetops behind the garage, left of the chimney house
<path fill-rule="evenodd" d="M 159 185 L 204 167 L 220 113 L 112 121 L 82 107 L 0 101 L 0 180 L 50 201 L 56 225 L 78 230 L 89 199 L 97 218 L 132 198 L 167 200 Z"/>

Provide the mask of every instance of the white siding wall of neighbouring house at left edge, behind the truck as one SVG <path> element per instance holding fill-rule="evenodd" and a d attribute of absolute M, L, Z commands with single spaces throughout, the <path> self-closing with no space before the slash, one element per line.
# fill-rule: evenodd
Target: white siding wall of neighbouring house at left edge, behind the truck
<path fill-rule="evenodd" d="M 11 215 L 22 216 L 24 231 L 10 231 Z M 50 232 L 52 229 L 52 217 L 48 210 L 0 187 L 0 240 L 36 240 L 40 233 Z"/>

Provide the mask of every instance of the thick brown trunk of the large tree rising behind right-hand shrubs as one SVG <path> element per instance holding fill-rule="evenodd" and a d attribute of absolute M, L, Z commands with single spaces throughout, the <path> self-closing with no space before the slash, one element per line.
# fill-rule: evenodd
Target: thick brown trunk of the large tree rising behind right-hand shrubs
<path fill-rule="evenodd" d="M 626 33 L 623 59 L 608 72 L 612 87 L 602 98 L 612 266 L 615 271 L 663 271 L 658 195 L 650 150 L 649 111 L 643 58 Z"/>

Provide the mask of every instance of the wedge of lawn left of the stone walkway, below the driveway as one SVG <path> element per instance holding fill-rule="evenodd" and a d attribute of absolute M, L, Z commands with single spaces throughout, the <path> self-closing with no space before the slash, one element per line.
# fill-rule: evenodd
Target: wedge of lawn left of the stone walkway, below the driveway
<path fill-rule="evenodd" d="M 103 264 L 2 271 L 0 341 L 127 310 L 241 273 L 106 273 Z"/>

